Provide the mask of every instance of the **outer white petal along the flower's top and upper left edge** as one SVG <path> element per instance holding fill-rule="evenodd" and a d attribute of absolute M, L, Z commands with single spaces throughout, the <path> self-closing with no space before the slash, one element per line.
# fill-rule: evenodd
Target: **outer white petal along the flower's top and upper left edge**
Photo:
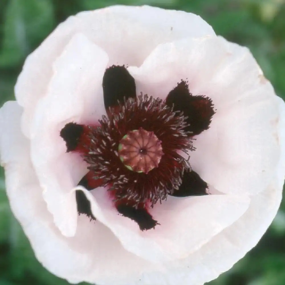
<path fill-rule="evenodd" d="M 18 78 L 15 95 L 25 108 L 22 125 L 27 136 L 34 108 L 46 94 L 53 75 L 52 63 L 76 33 L 84 34 L 103 48 L 109 56 L 109 65 L 138 66 L 159 43 L 215 35 L 211 26 L 197 15 L 148 6 L 113 6 L 68 18 L 28 56 Z"/>

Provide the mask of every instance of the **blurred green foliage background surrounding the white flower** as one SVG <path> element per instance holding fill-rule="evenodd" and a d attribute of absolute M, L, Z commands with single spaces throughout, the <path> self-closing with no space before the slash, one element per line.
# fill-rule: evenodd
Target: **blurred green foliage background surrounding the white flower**
<path fill-rule="evenodd" d="M 249 47 L 276 93 L 285 97 L 285 0 L 0 0 L 0 106 L 13 99 L 25 57 L 58 23 L 79 11 L 114 4 L 148 4 L 201 15 L 217 34 Z M 0 169 L 0 285 L 16 284 L 68 282 L 47 272 L 34 257 L 9 209 Z M 207 285 L 285 285 L 284 202 L 259 244 Z"/>

